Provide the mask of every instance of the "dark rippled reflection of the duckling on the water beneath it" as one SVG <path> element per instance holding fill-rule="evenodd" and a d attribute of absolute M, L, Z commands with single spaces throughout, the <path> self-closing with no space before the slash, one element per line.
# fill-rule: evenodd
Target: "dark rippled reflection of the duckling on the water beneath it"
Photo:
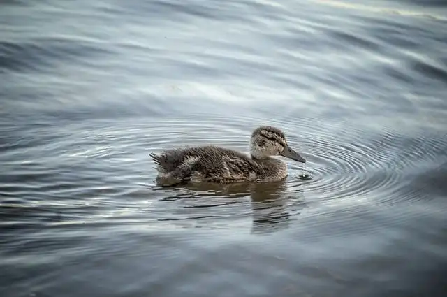
<path fill-rule="evenodd" d="M 300 191 L 287 191 L 286 180 L 264 183 L 183 184 L 182 186 L 169 187 L 168 189 L 173 190 L 174 195 L 163 198 L 163 201 L 193 197 L 235 198 L 225 202 L 219 200 L 219 203 L 216 203 L 216 205 L 207 203 L 207 207 L 241 203 L 236 198 L 251 196 L 252 233 L 270 233 L 287 228 L 289 218 L 292 215 L 291 212 L 296 212 L 296 209 L 288 210 L 288 201 L 291 199 L 300 200 L 302 198 Z"/>

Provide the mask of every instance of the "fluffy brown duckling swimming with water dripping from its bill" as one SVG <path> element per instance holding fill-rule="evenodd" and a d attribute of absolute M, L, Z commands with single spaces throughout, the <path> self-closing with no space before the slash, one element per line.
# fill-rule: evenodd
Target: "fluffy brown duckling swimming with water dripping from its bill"
<path fill-rule="evenodd" d="M 284 133 L 273 126 L 259 126 L 251 134 L 250 155 L 224 147 L 207 145 L 166 150 L 150 154 L 159 172 L 157 182 L 273 182 L 287 176 L 286 164 L 271 156 L 305 163 L 288 146 Z"/>

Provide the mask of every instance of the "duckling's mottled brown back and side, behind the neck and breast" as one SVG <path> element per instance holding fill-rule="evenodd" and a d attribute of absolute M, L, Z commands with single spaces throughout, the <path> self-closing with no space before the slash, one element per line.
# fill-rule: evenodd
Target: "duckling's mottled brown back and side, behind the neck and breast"
<path fill-rule="evenodd" d="M 212 145 L 167 150 L 151 154 L 159 178 L 176 182 L 235 182 L 256 180 L 256 162 L 246 154 Z"/>

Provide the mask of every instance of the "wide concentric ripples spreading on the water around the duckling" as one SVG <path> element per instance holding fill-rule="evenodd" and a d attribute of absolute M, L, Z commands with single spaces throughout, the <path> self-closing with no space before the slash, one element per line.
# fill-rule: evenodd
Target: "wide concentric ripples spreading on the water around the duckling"
<path fill-rule="evenodd" d="M 145 216 L 155 222 L 175 224 L 176 221 L 196 219 L 199 224 L 203 222 L 203 226 L 212 226 L 215 223 L 221 227 L 230 227 L 231 224 L 226 225 L 230 218 L 231 222 L 243 222 L 256 217 L 254 222 L 264 222 L 261 223 L 263 226 L 265 222 L 272 221 L 269 217 L 271 214 L 260 215 L 271 201 L 282 201 L 281 208 L 287 215 L 279 217 L 287 220 L 301 215 L 302 210 L 311 215 L 319 211 L 325 212 L 323 208 L 331 203 L 342 203 L 344 210 L 353 211 L 359 207 L 358 203 L 376 207 L 418 203 L 423 195 L 413 189 L 408 180 L 410 177 L 414 178 L 415 174 L 417 176 L 417 171 L 424 168 L 430 170 L 442 161 L 439 157 L 442 158 L 446 147 L 446 141 L 441 137 L 420 134 L 409 138 L 395 131 L 375 134 L 367 127 L 353 127 L 347 122 L 321 122 L 315 118 L 291 119 L 286 116 L 281 121 L 267 121 L 256 117 L 233 117 L 228 121 L 226 117 L 200 113 L 195 117 L 194 122 L 177 118 L 149 123 L 136 118 L 131 123 L 116 121 L 110 125 L 99 121 L 95 133 L 89 133 L 83 127 L 84 124 L 75 122 L 70 129 L 78 133 L 71 135 L 63 133 L 58 127 L 52 127 L 53 131 L 50 132 L 46 126 L 34 129 L 34 135 L 29 134 L 22 141 L 39 133 L 51 133 L 57 137 L 59 145 L 47 141 L 24 151 L 24 157 L 29 154 L 38 156 L 43 152 L 47 156 L 46 166 L 34 164 L 30 167 L 31 164 L 24 164 L 24 173 L 31 174 L 35 171 L 33 168 L 41 168 L 46 173 L 59 171 L 62 179 L 59 186 L 54 187 L 52 181 L 42 175 L 40 181 L 36 180 L 36 186 L 29 191 L 23 187 L 21 191 L 15 191 L 15 182 L 11 180 L 10 184 L 2 187 L 1 194 L 9 196 L 10 203 L 17 203 L 17 195 L 27 196 L 39 189 L 44 192 L 51 189 L 59 196 L 80 197 L 95 193 L 102 196 L 107 193 L 107 199 L 99 198 L 89 203 L 101 207 L 112 207 L 116 199 L 124 197 L 139 201 L 146 199 L 145 196 L 149 194 L 157 198 L 151 199 L 144 208 Z M 296 178 L 302 173 L 301 164 L 284 159 L 288 164 L 289 176 L 281 186 L 235 184 L 159 189 L 152 182 L 156 171 L 149 161 L 149 152 L 182 145 L 206 144 L 248 152 L 249 136 L 259 124 L 271 124 L 285 131 L 289 144 L 307 159 L 306 171 L 312 176 L 311 180 Z M 17 154 L 17 150 L 6 150 L 3 157 L 7 158 L 10 154 Z M 50 157 L 51 154 L 58 154 L 59 162 L 64 161 L 68 167 L 52 167 L 54 160 Z M 444 161 L 445 158 L 444 155 Z M 71 173 L 70 166 L 76 166 L 84 172 L 82 185 L 77 185 L 76 180 L 79 178 Z M 104 172 L 105 168 L 109 172 Z M 103 187 L 101 190 L 98 185 L 104 182 L 112 183 L 113 189 Z M 260 191 L 263 193 L 261 196 Z M 416 192 L 419 194 L 416 195 Z M 36 197 L 36 201 L 38 199 Z M 64 212 L 65 216 L 62 217 L 65 219 L 75 215 L 71 214 L 74 210 L 70 209 L 71 206 L 65 210 L 56 209 L 58 206 L 52 203 L 48 206 L 54 208 L 55 214 Z M 320 207 L 323 208 L 318 210 Z M 268 208 L 271 210 L 274 207 Z M 89 211 L 91 210 L 85 209 L 85 212 Z M 134 215 L 142 215 L 141 210 L 131 205 L 118 208 L 115 205 L 115 210 L 110 211 L 109 215 L 103 213 L 98 219 L 102 220 L 104 215 L 116 216 L 123 211 L 126 215 L 119 217 L 124 220 L 132 217 L 132 212 L 136 212 Z M 82 213 L 80 209 L 76 212 Z"/>

